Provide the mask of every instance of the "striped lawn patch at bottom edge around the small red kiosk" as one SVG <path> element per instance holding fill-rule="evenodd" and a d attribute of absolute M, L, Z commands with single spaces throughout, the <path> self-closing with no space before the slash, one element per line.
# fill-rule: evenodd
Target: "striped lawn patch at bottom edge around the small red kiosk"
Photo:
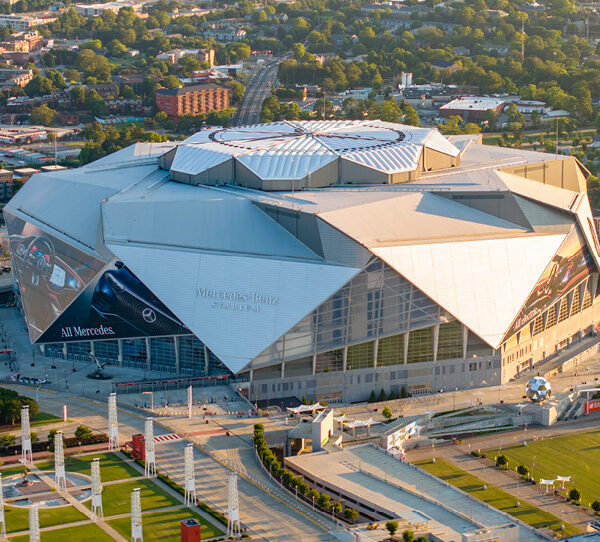
<path fill-rule="evenodd" d="M 143 499 L 143 498 L 142 498 Z M 202 540 L 213 536 L 223 536 L 225 533 L 220 531 L 212 524 L 192 512 L 189 508 L 179 510 L 170 510 L 168 512 L 155 512 L 144 514 L 142 516 L 142 530 L 144 531 L 144 541 L 150 540 L 171 540 L 179 541 L 181 537 L 180 523 L 183 519 L 195 518 L 202 524 Z M 119 531 L 125 538 L 131 536 L 131 518 L 113 519 L 108 522 L 111 527 Z M 45 541 L 44 541 L 45 542 Z"/>

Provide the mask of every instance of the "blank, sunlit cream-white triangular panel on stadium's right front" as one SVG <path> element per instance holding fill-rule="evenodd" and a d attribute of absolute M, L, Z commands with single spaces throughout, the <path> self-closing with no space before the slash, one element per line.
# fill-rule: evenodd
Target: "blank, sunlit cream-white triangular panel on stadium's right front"
<path fill-rule="evenodd" d="M 371 250 L 492 348 L 498 348 L 565 236 Z"/>

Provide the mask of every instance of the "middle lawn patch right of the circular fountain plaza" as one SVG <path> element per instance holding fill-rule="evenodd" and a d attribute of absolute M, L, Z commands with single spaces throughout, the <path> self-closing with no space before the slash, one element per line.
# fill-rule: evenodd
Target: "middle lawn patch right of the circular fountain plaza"
<path fill-rule="evenodd" d="M 142 510 L 154 510 L 155 508 L 175 505 L 183 506 L 175 497 L 172 497 L 166 491 L 157 487 L 152 480 L 133 480 L 131 482 L 123 482 L 122 484 L 104 486 L 102 488 L 102 508 L 104 510 L 104 517 L 115 516 L 117 514 L 128 514 L 131 511 L 131 491 L 136 487 L 140 488 Z M 84 504 L 91 509 L 91 500 Z"/>

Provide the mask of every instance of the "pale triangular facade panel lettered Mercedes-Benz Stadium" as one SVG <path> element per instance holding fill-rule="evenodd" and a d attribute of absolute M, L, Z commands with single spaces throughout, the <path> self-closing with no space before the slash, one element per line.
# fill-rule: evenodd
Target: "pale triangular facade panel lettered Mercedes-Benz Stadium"
<path fill-rule="evenodd" d="M 276 258 L 107 246 L 234 372 L 360 271 Z"/>

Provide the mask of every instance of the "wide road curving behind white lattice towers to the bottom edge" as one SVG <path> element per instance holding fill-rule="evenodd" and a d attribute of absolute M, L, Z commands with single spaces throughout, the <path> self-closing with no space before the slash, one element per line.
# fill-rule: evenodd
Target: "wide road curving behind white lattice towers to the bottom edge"
<path fill-rule="evenodd" d="M 19 393 L 33 396 L 35 391 L 23 386 L 14 386 Z M 76 396 L 64 396 L 50 390 L 40 392 L 40 408 L 52 414 L 60 414 L 62 405 L 68 404 L 69 418 L 98 431 L 107 432 L 107 407 L 100 402 Z M 132 434 L 144 431 L 144 418 L 119 408 L 119 436 L 124 441 Z M 155 427 L 155 435 L 167 431 Z M 156 462 L 159 470 L 174 475 L 183 475 L 183 450 L 185 440 L 157 443 Z M 227 504 L 227 473 L 229 469 L 209 455 L 196 451 L 196 487 L 199 498 L 224 511 Z M 266 476 L 264 477 L 266 479 Z M 239 503 L 241 521 L 256 533 L 257 538 L 269 541 L 331 541 L 334 538 L 308 515 L 289 506 L 274 493 L 240 478 Z"/>

